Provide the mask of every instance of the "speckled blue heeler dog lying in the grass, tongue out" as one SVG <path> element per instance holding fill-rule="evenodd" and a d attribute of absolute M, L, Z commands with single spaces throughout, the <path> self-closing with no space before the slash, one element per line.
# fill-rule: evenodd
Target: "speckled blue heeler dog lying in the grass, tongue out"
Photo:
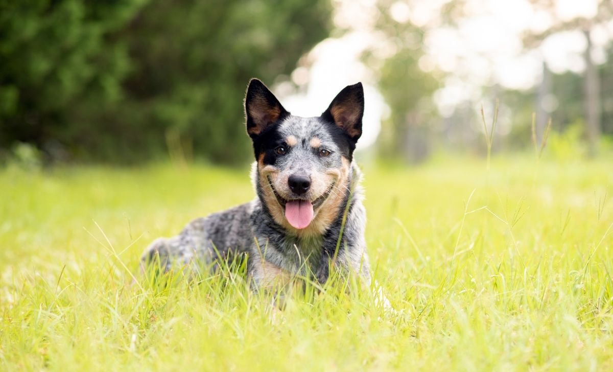
<path fill-rule="evenodd" d="M 254 289 L 306 275 L 324 283 L 330 264 L 370 283 L 360 171 L 352 161 L 362 134 L 364 90 L 349 85 L 320 116 L 291 115 L 260 80 L 245 97 L 256 162 L 257 197 L 198 218 L 172 238 L 158 238 L 142 260 L 215 265 L 230 252 L 248 255 Z"/>

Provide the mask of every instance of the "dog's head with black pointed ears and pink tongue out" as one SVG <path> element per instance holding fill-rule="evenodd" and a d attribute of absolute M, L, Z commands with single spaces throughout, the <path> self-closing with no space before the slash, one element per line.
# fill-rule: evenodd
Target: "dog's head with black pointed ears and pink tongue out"
<path fill-rule="evenodd" d="M 302 118 L 253 79 L 245 113 L 262 202 L 287 229 L 324 232 L 348 192 L 353 151 L 362 135 L 362 84 L 346 86 L 320 116 Z"/>

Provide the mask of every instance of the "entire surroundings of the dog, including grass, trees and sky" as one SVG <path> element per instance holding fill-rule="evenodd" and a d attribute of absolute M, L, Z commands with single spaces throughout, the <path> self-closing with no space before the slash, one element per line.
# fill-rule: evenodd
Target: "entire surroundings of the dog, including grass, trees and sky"
<path fill-rule="evenodd" d="M 0 371 L 613 370 L 612 9 L 0 0 Z M 253 197 L 251 77 L 303 116 L 364 83 L 376 295 L 138 274 Z"/>

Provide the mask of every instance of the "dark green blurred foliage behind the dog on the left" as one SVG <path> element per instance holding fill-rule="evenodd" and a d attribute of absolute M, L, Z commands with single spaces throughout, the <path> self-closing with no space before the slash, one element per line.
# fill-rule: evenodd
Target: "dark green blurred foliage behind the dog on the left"
<path fill-rule="evenodd" d="M 330 13 L 300 0 L 0 4 L 0 147 L 112 161 L 167 147 L 248 159 L 246 83 L 289 74 Z"/>

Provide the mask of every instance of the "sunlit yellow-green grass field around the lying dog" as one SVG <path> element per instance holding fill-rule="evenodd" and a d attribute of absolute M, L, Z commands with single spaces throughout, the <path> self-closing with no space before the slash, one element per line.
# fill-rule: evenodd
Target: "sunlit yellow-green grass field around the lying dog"
<path fill-rule="evenodd" d="M 153 238 L 251 199 L 247 170 L 0 171 L 0 370 L 613 370 L 611 161 L 365 167 L 379 284 L 153 283 Z M 132 284 L 132 275 L 139 279 Z"/>

